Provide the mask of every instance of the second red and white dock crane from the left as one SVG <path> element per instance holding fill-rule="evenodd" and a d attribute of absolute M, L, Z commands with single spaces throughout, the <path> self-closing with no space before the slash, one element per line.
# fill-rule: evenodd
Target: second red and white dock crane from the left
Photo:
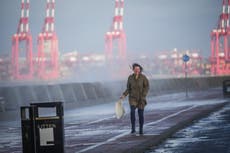
<path fill-rule="evenodd" d="M 46 18 L 42 33 L 38 35 L 38 77 L 56 79 L 59 77 L 58 38 L 54 31 L 55 0 L 46 1 Z"/>

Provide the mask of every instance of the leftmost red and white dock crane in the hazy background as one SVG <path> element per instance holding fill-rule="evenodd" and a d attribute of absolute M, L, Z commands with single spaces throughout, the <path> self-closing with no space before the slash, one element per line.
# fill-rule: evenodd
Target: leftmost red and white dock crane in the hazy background
<path fill-rule="evenodd" d="M 17 80 L 33 78 L 32 35 L 29 30 L 29 0 L 21 1 L 17 33 L 12 37 L 12 76 Z"/>

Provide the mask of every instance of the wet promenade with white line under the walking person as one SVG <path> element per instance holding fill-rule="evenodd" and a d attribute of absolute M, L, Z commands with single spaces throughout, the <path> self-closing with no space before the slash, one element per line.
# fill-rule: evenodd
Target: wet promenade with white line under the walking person
<path fill-rule="evenodd" d="M 149 97 L 141 136 L 130 134 L 127 101 L 126 115 L 119 120 L 114 115 L 114 102 L 66 110 L 65 152 L 143 152 L 193 120 L 222 107 L 226 100 L 221 92 L 220 88 L 193 92 L 189 99 L 184 93 Z M 22 152 L 20 121 L 1 122 L 0 136 L 0 152 Z"/>

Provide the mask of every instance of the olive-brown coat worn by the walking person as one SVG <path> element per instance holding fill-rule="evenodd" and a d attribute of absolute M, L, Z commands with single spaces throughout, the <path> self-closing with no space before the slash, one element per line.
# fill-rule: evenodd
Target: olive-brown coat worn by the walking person
<path fill-rule="evenodd" d="M 124 96 L 129 95 L 129 104 L 144 109 L 147 104 L 146 96 L 149 91 L 149 81 L 144 74 L 139 74 L 135 78 L 135 74 L 128 77 L 127 89 L 123 93 Z"/>

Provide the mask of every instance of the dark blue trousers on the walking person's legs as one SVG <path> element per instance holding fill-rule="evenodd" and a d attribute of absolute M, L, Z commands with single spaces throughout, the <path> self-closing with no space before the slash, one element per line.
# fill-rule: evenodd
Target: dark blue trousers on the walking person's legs
<path fill-rule="evenodd" d="M 132 131 L 135 131 L 135 121 L 136 121 L 136 117 L 135 117 L 135 112 L 136 112 L 136 108 L 135 106 L 130 106 L 130 119 L 131 119 L 131 125 L 132 125 Z M 139 117 L 139 132 L 143 132 L 143 124 L 144 124 L 144 109 L 139 109 L 138 108 L 138 117 Z"/>

